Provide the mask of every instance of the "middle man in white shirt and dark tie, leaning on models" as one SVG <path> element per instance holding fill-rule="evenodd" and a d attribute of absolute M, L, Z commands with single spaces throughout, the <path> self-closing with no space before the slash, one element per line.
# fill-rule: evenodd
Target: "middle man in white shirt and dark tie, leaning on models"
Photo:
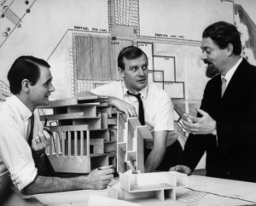
<path fill-rule="evenodd" d="M 173 105 L 170 96 L 154 84 L 148 83 L 148 57 L 143 50 L 130 46 L 122 49 L 118 57 L 119 74 L 123 81 L 110 83 L 91 92 L 109 96 L 108 103 L 126 117 L 137 117 L 146 124 L 154 136 L 144 148 L 145 172 L 168 170 L 176 165 L 182 147 L 174 131 Z M 144 113 L 138 110 L 140 95 Z M 142 118 L 143 116 L 143 118 Z"/>

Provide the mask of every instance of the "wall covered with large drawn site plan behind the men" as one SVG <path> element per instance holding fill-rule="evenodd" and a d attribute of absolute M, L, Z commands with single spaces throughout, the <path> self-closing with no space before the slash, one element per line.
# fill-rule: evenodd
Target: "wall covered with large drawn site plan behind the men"
<path fill-rule="evenodd" d="M 133 44 L 148 55 L 149 79 L 170 94 L 178 121 L 200 106 L 208 81 L 200 49 L 207 25 L 236 24 L 242 55 L 255 63 L 255 6 L 253 0 L 0 0 L 0 100 L 9 95 L 7 72 L 20 55 L 49 62 L 55 100 L 118 80 L 117 74 L 103 81 L 97 72 L 113 73 L 119 50 Z M 108 49 L 102 62 L 98 54 Z M 90 66 L 81 61 L 89 54 Z"/>

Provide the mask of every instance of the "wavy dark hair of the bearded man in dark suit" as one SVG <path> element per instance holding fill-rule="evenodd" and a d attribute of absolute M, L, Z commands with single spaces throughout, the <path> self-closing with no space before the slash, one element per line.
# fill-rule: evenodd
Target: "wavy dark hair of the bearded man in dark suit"
<path fill-rule="evenodd" d="M 202 34 L 203 38 L 210 37 L 216 43 L 219 49 L 225 49 L 229 43 L 233 45 L 233 53 L 241 54 L 241 38 L 240 32 L 237 31 L 236 26 L 218 21 L 208 26 Z"/>

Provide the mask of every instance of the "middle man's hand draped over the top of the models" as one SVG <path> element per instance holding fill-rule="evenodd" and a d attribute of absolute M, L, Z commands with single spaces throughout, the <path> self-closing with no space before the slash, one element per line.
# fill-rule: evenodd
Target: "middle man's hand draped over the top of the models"
<path fill-rule="evenodd" d="M 124 100 L 109 97 L 109 103 L 111 106 L 115 106 L 120 112 L 125 113 L 126 117 L 137 117 L 136 108 Z"/>

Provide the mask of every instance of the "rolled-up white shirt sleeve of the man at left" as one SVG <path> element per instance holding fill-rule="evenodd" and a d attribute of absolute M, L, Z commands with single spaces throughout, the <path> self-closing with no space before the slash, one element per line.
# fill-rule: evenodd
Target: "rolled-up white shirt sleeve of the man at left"
<path fill-rule="evenodd" d="M 30 184 L 38 174 L 32 151 L 12 119 L 0 127 L 0 161 L 9 170 L 10 179 L 20 191 Z"/>

